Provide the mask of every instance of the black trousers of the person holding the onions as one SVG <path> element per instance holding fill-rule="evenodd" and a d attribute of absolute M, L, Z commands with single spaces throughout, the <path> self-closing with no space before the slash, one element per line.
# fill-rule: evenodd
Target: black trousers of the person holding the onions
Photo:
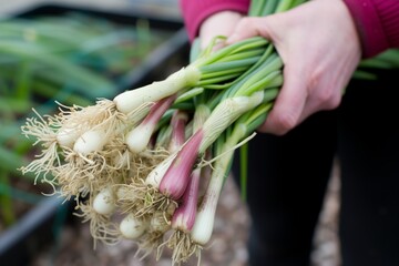
<path fill-rule="evenodd" d="M 309 265 L 335 157 L 342 265 L 399 265 L 398 76 L 385 71 L 378 81 L 354 80 L 337 110 L 314 114 L 284 136 L 259 133 L 249 142 L 250 266 Z"/>

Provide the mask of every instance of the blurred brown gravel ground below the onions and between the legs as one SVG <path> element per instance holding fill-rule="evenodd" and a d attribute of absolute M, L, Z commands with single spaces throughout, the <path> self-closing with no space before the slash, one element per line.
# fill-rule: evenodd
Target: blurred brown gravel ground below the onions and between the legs
<path fill-rule="evenodd" d="M 337 214 L 339 209 L 338 170 L 326 196 L 325 211 L 315 236 L 316 249 L 313 253 L 313 266 L 339 265 L 337 242 Z M 242 203 L 236 186 L 228 178 L 222 193 L 215 219 L 212 245 L 202 253 L 202 266 L 246 266 L 246 239 L 250 219 L 246 206 Z M 75 224 L 74 224 L 75 225 Z M 152 256 L 140 260 L 135 257 L 135 246 L 132 242 L 122 242 L 116 246 L 99 245 L 93 250 L 93 242 L 86 224 L 66 226 L 61 235 L 60 244 L 38 256 L 32 266 L 170 266 L 171 254 L 165 249 L 156 262 Z M 197 265 L 192 259 L 187 266 Z"/>

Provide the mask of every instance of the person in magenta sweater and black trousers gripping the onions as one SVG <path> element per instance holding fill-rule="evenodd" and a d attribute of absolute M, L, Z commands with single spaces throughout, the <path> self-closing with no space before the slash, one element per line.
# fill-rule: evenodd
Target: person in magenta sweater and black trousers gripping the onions
<path fill-rule="evenodd" d="M 262 35 L 284 62 L 264 134 L 249 142 L 249 265 L 310 264 L 335 158 L 341 264 L 399 265 L 399 72 L 352 79 L 360 60 L 399 47 L 399 1 L 313 0 L 258 18 L 246 17 L 248 6 L 181 0 L 190 40 Z"/>

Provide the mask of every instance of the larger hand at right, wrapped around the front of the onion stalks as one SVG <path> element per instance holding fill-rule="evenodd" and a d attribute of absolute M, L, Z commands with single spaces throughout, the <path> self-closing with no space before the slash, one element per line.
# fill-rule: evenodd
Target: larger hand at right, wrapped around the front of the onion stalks
<path fill-rule="evenodd" d="M 269 39 L 284 62 L 284 84 L 258 129 L 283 135 L 310 114 L 339 105 L 361 49 L 341 0 L 313 0 L 287 12 L 243 18 L 227 44 L 254 35 Z"/>

